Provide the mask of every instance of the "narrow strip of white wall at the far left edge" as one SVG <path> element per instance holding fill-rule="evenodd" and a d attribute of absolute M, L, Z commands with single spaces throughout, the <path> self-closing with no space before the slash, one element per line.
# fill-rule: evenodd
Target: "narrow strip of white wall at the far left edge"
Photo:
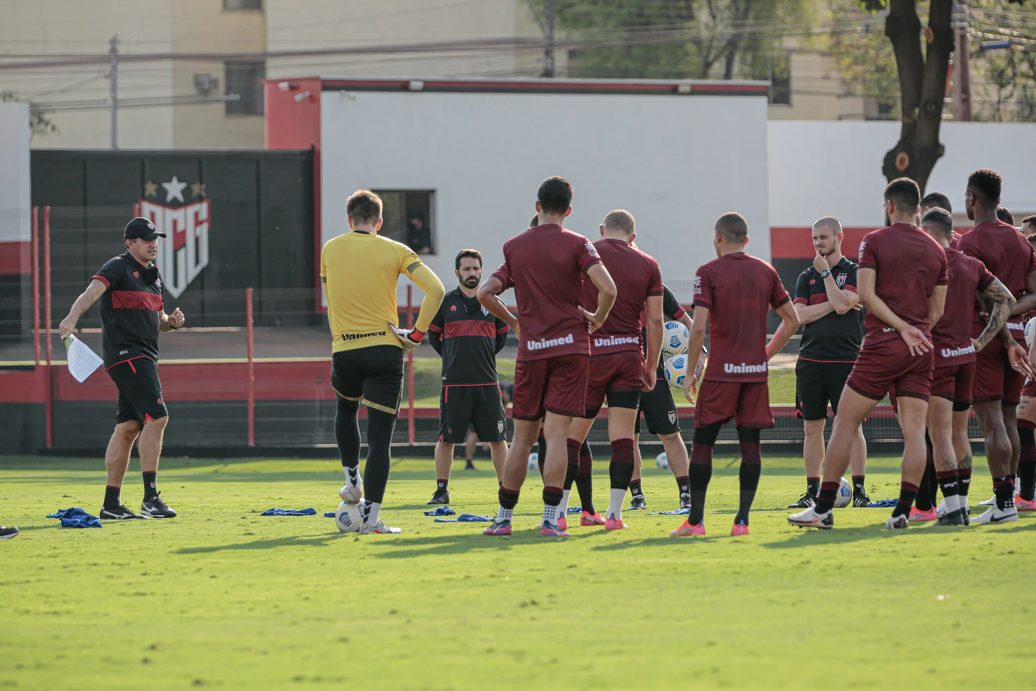
<path fill-rule="evenodd" d="M 0 242 L 32 239 L 29 105 L 0 103 Z"/>

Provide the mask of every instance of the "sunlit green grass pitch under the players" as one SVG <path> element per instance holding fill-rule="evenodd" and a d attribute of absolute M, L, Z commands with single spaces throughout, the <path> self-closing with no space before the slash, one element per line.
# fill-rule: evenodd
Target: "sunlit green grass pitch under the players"
<path fill-rule="evenodd" d="M 977 459 L 972 502 L 990 495 Z M 454 470 L 459 513 L 495 510 L 488 461 Z M 871 459 L 891 497 L 897 459 Z M 456 468 L 457 466 L 455 466 Z M 728 536 L 737 461 L 717 458 L 709 536 L 679 516 L 630 529 L 516 535 L 434 523 L 430 460 L 394 465 L 383 517 L 403 535 L 342 535 L 332 519 L 260 517 L 338 505 L 335 461 L 168 459 L 172 520 L 64 529 L 47 513 L 99 510 L 97 460 L 0 459 L 0 689 L 866 689 L 982 688 L 1032 675 L 1036 517 L 1000 526 L 886 531 L 881 509 L 836 529 L 787 526 L 801 460 L 765 458 L 752 534 Z M 595 476 L 606 505 L 607 466 Z M 667 471 L 644 474 L 672 509 Z M 136 461 L 123 488 L 139 506 Z M 573 503 L 577 499 L 573 497 Z M 1013 680 L 1013 681 L 1012 681 Z"/>

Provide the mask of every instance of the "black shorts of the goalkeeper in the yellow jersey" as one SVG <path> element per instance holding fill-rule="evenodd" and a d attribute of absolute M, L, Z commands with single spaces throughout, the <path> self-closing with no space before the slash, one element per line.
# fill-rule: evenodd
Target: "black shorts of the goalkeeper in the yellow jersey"
<path fill-rule="evenodd" d="M 330 356 L 330 385 L 344 399 L 399 414 L 403 349 L 383 345 L 336 352 Z"/>

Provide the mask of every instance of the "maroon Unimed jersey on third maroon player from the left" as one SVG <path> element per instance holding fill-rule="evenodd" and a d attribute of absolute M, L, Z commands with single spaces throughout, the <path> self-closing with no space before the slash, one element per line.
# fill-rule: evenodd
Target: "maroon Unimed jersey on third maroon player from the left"
<path fill-rule="evenodd" d="M 767 311 L 789 299 L 774 267 L 744 252 L 699 266 L 694 307 L 710 311 L 704 379 L 766 381 Z"/>

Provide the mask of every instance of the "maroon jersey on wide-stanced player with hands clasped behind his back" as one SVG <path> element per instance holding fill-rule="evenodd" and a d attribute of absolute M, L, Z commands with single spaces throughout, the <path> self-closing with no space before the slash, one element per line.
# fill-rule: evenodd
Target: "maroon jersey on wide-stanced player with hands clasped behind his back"
<path fill-rule="evenodd" d="M 946 253 L 926 232 L 909 223 L 896 223 L 867 233 L 860 243 L 860 268 L 877 271 L 874 294 L 896 316 L 931 336 L 928 298 L 936 286 L 945 286 Z M 896 329 L 868 310 L 863 347 L 899 338 Z"/>

